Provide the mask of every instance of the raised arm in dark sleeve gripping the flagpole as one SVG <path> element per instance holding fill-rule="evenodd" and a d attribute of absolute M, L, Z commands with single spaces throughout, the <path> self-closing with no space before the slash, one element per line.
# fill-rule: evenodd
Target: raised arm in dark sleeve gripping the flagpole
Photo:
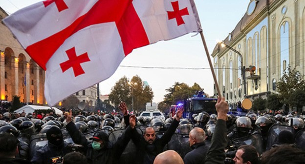
<path fill-rule="evenodd" d="M 215 132 L 212 137 L 211 147 L 205 157 L 205 164 L 224 164 L 225 152 L 228 138 L 226 134 L 226 120 L 229 111 L 228 103 L 224 98 L 219 99 L 216 103 L 217 122 Z"/>

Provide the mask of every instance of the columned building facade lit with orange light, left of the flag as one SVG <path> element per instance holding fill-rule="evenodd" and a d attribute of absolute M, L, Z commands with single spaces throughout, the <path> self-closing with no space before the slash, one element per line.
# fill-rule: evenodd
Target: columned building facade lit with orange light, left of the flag
<path fill-rule="evenodd" d="M 0 21 L 7 17 L 0 8 Z M 14 95 L 21 102 L 46 104 L 44 98 L 44 70 L 24 51 L 10 30 L 0 23 L 0 99 L 12 101 Z"/>

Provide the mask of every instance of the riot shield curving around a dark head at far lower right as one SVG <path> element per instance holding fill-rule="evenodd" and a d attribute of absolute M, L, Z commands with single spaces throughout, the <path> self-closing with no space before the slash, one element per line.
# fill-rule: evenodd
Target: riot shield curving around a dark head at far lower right
<path fill-rule="evenodd" d="M 266 143 L 266 151 L 272 148 L 272 145 L 279 142 L 279 134 L 282 131 L 289 131 L 294 135 L 294 129 L 292 126 L 279 125 L 275 124 L 269 128 L 267 143 Z"/>

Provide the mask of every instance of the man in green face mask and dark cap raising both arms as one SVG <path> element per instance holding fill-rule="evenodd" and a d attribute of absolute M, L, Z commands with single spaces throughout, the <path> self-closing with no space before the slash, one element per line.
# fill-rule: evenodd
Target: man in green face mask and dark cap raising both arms
<path fill-rule="evenodd" d="M 71 121 L 72 112 L 66 114 L 66 129 L 74 143 L 84 146 L 86 158 L 89 164 L 117 164 L 118 160 L 130 141 L 131 127 L 126 128 L 125 134 L 121 136 L 114 144 L 108 139 L 108 134 L 104 131 L 95 132 L 88 142 L 86 137 L 77 130 L 75 124 Z M 135 116 L 130 117 L 130 125 L 135 126 Z"/>

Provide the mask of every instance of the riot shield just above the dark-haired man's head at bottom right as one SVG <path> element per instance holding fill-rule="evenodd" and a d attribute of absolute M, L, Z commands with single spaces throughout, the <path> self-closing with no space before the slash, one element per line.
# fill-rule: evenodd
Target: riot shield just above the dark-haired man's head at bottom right
<path fill-rule="evenodd" d="M 232 143 L 236 147 L 239 147 L 241 145 L 252 145 L 256 148 L 259 154 L 262 154 L 264 152 L 263 138 L 259 133 L 234 139 Z"/>

